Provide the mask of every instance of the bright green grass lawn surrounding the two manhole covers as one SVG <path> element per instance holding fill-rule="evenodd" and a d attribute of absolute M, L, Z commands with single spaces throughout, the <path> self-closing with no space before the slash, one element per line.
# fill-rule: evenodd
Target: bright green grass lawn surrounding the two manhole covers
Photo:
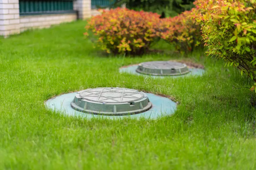
<path fill-rule="evenodd" d="M 236 89 L 247 77 L 204 53 L 190 55 L 204 64 L 204 76 L 149 84 L 171 86 L 162 93 L 180 103 L 172 117 L 86 120 L 45 109 L 45 100 L 85 85 L 145 90 L 142 76 L 118 68 L 180 58 L 107 57 L 84 39 L 84 26 L 78 21 L 0 39 L 0 169 L 256 168 L 255 94 Z"/>

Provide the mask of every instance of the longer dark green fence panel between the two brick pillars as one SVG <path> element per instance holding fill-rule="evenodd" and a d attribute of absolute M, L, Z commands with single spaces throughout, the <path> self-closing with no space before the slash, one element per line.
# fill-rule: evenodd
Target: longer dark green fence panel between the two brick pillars
<path fill-rule="evenodd" d="M 73 0 L 20 0 L 20 15 L 70 13 Z"/>

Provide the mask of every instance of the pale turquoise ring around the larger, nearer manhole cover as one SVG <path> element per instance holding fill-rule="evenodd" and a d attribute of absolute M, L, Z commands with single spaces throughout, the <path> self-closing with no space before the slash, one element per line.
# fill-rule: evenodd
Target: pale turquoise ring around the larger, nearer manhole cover
<path fill-rule="evenodd" d="M 138 113 L 135 115 L 124 115 L 124 116 L 105 116 L 105 115 L 93 115 L 89 113 L 80 112 L 78 110 L 74 110 L 71 107 L 71 102 L 76 96 L 76 92 L 68 93 L 64 95 L 60 95 L 54 98 L 51 98 L 45 102 L 45 106 L 47 109 L 60 111 L 61 114 L 65 114 L 68 116 L 77 116 L 83 117 L 87 119 L 91 118 L 108 118 L 108 119 L 120 119 L 120 118 L 147 118 L 147 119 L 156 119 L 164 116 L 170 116 L 174 114 L 177 109 L 177 103 L 173 102 L 171 99 L 158 96 L 151 93 L 146 93 L 150 102 L 152 103 L 152 108 L 146 112 Z"/>

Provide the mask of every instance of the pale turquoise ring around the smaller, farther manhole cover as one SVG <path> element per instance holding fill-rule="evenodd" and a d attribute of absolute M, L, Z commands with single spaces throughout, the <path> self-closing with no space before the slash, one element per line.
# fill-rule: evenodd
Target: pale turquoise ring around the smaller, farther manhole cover
<path fill-rule="evenodd" d="M 181 77 L 191 77 L 191 76 L 202 76 L 205 72 L 204 69 L 201 68 L 189 68 L 189 73 L 187 74 L 182 74 L 182 75 L 169 75 L 169 76 L 160 76 L 160 75 L 149 75 L 149 74 L 141 74 L 136 72 L 137 67 L 139 66 L 139 64 L 136 65 L 131 65 L 131 66 L 127 66 L 127 67 L 121 67 L 119 68 L 119 72 L 120 73 L 129 73 L 129 74 L 135 74 L 135 75 L 142 75 L 142 76 L 150 76 L 152 78 L 166 78 L 166 77 L 171 77 L 171 78 L 181 78 Z"/>

